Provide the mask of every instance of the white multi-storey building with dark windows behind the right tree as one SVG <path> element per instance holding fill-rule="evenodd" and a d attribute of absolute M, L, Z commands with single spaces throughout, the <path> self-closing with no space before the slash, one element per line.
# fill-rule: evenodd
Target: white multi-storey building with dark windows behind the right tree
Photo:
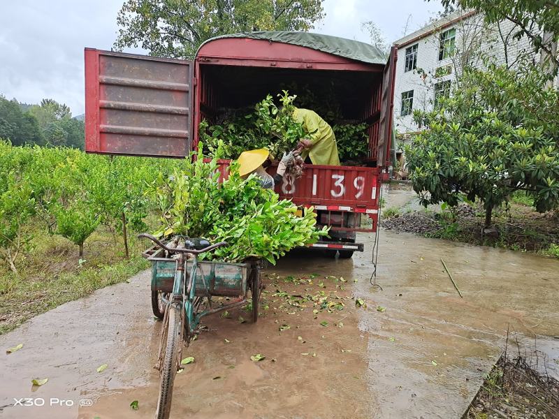
<path fill-rule="evenodd" d="M 395 131 L 404 134 L 404 140 L 409 137 L 405 134 L 419 131 L 413 110 L 432 110 L 438 97 L 449 94 L 464 64 L 481 66 L 484 55 L 508 66 L 525 54 L 535 57 L 528 38 L 518 40 L 516 32 L 512 22 L 488 26 L 482 15 L 459 11 L 395 41 Z"/>

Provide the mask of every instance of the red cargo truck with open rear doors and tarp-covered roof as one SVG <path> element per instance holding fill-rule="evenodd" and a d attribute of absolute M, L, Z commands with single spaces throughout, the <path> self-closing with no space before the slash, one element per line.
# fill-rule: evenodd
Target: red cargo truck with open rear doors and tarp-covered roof
<path fill-rule="evenodd" d="M 365 43 L 300 32 L 252 32 L 210 39 L 194 61 L 85 49 L 85 149 L 101 154 L 184 157 L 198 124 L 260 101 L 296 82 L 331 89 L 347 119 L 369 124 L 364 166 L 305 165 L 276 191 L 314 207 L 331 238 L 312 247 L 342 258 L 363 251 L 357 231 L 376 231 L 390 161 L 396 50 L 388 62 Z M 226 172 L 228 161 L 222 162 Z M 363 223 L 362 216 L 370 223 Z"/>

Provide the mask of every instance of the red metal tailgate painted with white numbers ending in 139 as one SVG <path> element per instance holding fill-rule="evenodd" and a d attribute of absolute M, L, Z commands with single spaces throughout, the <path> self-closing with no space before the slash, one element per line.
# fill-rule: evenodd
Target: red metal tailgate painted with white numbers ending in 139
<path fill-rule="evenodd" d="M 284 177 L 275 191 L 297 205 L 377 207 L 377 168 L 305 165 L 303 177 Z"/>

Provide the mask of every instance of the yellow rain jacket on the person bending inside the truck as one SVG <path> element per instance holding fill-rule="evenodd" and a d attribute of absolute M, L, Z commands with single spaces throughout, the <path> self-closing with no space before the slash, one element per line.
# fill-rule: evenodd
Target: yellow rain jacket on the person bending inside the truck
<path fill-rule="evenodd" d="M 317 112 L 309 109 L 295 108 L 293 119 L 303 124 L 308 138 L 312 142 L 309 149 L 301 153 L 303 159 L 310 157 L 312 164 L 324 164 L 328 166 L 340 166 L 340 158 L 337 156 L 337 145 L 334 131 Z"/>

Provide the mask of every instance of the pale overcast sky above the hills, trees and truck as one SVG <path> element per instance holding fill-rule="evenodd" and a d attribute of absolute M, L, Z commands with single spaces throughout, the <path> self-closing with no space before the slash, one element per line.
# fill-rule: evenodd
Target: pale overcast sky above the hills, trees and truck
<path fill-rule="evenodd" d="M 83 49 L 110 50 L 123 0 L 0 0 L 0 94 L 20 102 L 54 98 L 84 112 Z M 372 20 L 392 43 L 441 9 L 433 0 L 325 0 L 314 31 L 368 41 Z"/>

